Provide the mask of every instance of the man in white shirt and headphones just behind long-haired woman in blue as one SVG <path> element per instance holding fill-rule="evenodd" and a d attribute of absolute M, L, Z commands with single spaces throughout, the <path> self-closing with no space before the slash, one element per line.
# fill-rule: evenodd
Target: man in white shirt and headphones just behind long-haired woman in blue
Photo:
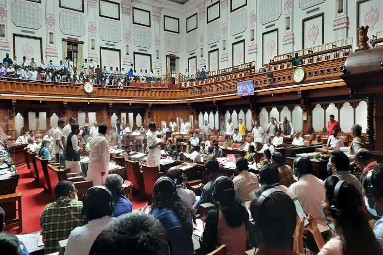
<path fill-rule="evenodd" d="M 195 203 L 195 194 L 192 190 L 189 190 L 186 187 L 186 182 L 188 178 L 184 176 L 176 167 L 171 167 L 166 173 L 166 175 L 176 183 L 177 193 L 180 196 L 181 200 L 185 203 L 185 205 L 188 208 L 193 210 L 193 206 Z"/>

